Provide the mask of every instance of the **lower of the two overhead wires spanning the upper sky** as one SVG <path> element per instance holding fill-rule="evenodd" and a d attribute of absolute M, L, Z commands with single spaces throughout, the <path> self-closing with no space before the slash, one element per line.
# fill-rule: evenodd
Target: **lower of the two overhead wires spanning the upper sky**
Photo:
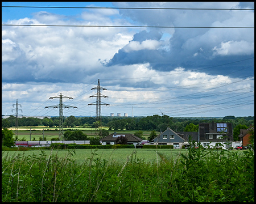
<path fill-rule="evenodd" d="M 154 25 L 45 25 L 45 24 L 2 24 L 2 26 L 28 27 L 107 27 L 107 28 L 227 28 L 254 29 L 254 27 L 210 27 L 210 26 L 154 26 Z"/>

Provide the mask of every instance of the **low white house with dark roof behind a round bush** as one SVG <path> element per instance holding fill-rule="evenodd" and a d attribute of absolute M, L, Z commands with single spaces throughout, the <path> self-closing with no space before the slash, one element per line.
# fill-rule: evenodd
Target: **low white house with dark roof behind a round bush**
<path fill-rule="evenodd" d="M 139 142 L 142 141 L 141 138 L 133 134 L 112 133 L 107 137 L 101 139 L 101 145 L 115 145 L 115 141 L 121 135 L 127 138 L 127 145 L 137 145 Z"/>

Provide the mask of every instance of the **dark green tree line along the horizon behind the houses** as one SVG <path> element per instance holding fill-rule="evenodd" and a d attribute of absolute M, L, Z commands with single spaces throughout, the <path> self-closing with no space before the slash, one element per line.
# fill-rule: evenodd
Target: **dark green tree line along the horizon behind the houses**
<path fill-rule="evenodd" d="M 147 117 L 102 117 L 101 125 L 108 126 L 109 130 L 155 130 L 164 131 L 171 128 L 174 131 L 186 131 L 189 124 L 198 125 L 200 122 L 231 122 L 233 128 L 237 125 L 250 127 L 254 125 L 254 116 L 234 117 L 225 116 L 224 118 L 174 118 L 167 115 L 147 116 Z M 10 116 L 2 118 L 2 128 L 15 127 L 16 117 Z M 34 117 L 18 118 L 18 126 L 47 126 L 49 128 L 59 127 L 59 117 L 44 117 L 43 119 Z M 65 128 L 95 128 L 95 117 L 75 117 L 64 118 L 63 127 Z"/>

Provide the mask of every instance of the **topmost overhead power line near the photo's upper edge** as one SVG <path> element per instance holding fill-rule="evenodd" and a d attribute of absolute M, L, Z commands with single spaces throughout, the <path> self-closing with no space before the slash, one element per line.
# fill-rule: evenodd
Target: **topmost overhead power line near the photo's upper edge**
<path fill-rule="evenodd" d="M 254 11 L 254 8 L 159 8 L 159 7 L 72 7 L 72 6 L 2 6 L 6 8 L 82 8 L 82 9 L 135 9 L 135 10 L 238 10 Z"/>

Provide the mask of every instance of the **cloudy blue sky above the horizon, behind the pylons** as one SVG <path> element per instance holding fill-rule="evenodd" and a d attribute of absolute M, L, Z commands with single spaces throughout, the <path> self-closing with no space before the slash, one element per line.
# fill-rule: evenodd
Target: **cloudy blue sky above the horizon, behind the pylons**
<path fill-rule="evenodd" d="M 254 2 L 2 2 L 2 115 L 95 116 L 98 80 L 102 116 L 254 116 Z"/>

